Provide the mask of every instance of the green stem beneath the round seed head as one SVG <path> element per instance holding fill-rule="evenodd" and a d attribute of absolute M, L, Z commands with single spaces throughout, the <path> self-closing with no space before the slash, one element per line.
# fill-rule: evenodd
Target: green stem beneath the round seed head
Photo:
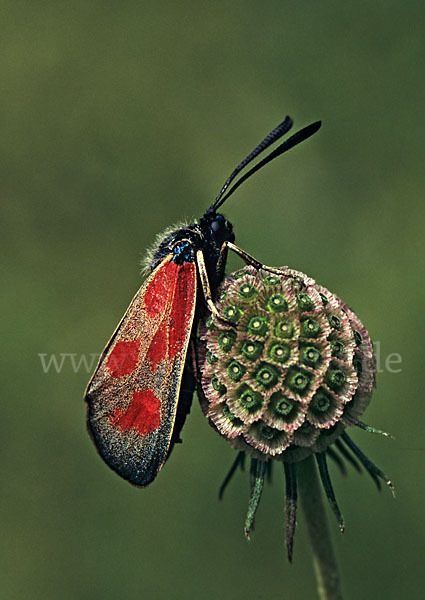
<path fill-rule="evenodd" d="M 342 600 L 338 565 L 313 455 L 297 464 L 297 479 L 301 506 L 313 550 L 319 598 L 320 600 Z"/>

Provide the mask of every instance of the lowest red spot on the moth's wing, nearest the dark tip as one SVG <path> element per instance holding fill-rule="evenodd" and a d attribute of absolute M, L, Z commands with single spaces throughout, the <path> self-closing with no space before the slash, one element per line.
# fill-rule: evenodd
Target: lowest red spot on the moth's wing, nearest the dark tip
<path fill-rule="evenodd" d="M 118 408 L 110 417 L 111 424 L 123 432 L 136 431 L 140 435 L 152 433 L 161 423 L 161 402 L 152 390 L 133 392 L 128 408 Z"/>

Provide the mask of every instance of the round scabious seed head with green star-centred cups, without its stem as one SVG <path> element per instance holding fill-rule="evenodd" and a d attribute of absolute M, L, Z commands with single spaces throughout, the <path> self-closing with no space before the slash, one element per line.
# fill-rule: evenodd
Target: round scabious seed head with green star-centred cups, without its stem
<path fill-rule="evenodd" d="M 296 462 L 323 452 L 370 402 L 370 337 L 337 296 L 292 269 L 225 278 L 200 325 L 201 406 L 238 450 Z"/>

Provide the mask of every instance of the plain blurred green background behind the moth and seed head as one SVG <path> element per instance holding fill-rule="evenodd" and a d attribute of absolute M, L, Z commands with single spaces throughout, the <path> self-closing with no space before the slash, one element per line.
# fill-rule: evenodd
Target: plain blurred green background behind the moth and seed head
<path fill-rule="evenodd" d="M 365 420 L 396 440 L 353 438 L 397 499 L 333 470 L 346 532 L 331 525 L 347 598 L 425 597 L 424 15 L 394 1 L 2 2 L 2 598 L 315 597 L 301 515 L 286 562 L 280 469 L 248 544 L 247 477 L 218 502 L 234 454 L 196 401 L 182 446 L 136 489 L 86 433 L 89 373 L 68 358 L 45 374 L 38 356 L 100 352 L 144 249 L 199 217 L 286 114 L 322 130 L 225 212 L 241 247 L 315 277 L 379 342 Z"/>

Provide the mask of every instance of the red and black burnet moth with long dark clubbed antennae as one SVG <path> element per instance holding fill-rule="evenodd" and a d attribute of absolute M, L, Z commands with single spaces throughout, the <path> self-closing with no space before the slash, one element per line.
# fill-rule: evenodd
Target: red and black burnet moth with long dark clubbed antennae
<path fill-rule="evenodd" d="M 234 169 L 199 221 L 166 232 L 151 253 L 150 274 L 107 343 L 85 393 L 88 429 L 97 450 L 130 483 L 151 483 L 180 441 L 196 385 L 188 349 L 200 316 L 210 311 L 218 317 L 214 298 L 227 251 L 256 268 L 280 272 L 235 246 L 233 226 L 217 210 L 248 177 L 320 125 L 312 123 L 289 137 L 230 187 L 290 130 L 292 119 L 286 117 Z"/>

